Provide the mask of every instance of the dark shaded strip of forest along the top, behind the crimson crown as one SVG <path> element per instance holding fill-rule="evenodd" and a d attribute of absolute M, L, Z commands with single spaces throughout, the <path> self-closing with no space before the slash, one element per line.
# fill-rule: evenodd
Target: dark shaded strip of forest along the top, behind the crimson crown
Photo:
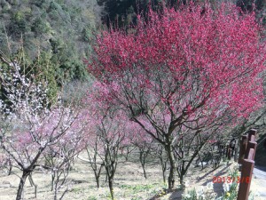
<path fill-rule="evenodd" d="M 210 0 L 213 5 L 221 3 L 224 0 Z M 102 20 L 109 26 L 110 23 L 113 26 L 127 27 L 130 24 L 135 23 L 137 20 L 137 13 L 144 13 L 147 7 L 152 5 L 153 9 L 158 9 L 162 3 L 170 6 L 183 6 L 183 4 L 190 4 L 191 2 L 205 2 L 205 0 L 98 0 L 98 4 L 105 6 L 105 14 Z M 253 3 L 258 17 L 262 17 L 263 9 L 265 9 L 265 1 L 263 0 L 230 0 L 237 4 L 243 11 L 250 12 L 253 10 Z M 265 19 L 264 19 L 265 22 Z"/>

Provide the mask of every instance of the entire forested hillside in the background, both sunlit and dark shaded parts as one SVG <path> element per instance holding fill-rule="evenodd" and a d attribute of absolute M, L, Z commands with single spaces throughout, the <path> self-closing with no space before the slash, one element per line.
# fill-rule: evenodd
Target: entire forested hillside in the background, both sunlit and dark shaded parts
<path fill-rule="evenodd" d="M 189 1 L 165 2 L 176 8 L 181 3 Z M 249 0 L 237 4 L 243 11 L 252 10 Z M 27 63 L 28 75 L 42 74 L 52 97 L 63 84 L 88 79 L 83 59 L 90 57 L 100 28 L 136 24 L 137 13 L 144 14 L 149 5 L 154 10 L 162 6 L 158 0 L 1 0 L 0 50 L 7 58 Z M 261 18 L 265 3 L 258 0 L 255 8 Z"/>

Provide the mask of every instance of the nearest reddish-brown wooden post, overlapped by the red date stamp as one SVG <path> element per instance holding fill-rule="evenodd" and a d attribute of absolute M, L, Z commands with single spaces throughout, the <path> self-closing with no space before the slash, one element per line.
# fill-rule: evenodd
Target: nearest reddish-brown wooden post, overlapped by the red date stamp
<path fill-rule="evenodd" d="M 247 200 L 249 195 L 250 183 L 252 180 L 252 173 L 254 169 L 254 160 L 251 158 L 254 154 L 254 148 L 249 149 L 247 159 L 242 161 L 242 172 L 241 177 L 238 179 L 239 182 L 239 194 L 238 200 Z"/>

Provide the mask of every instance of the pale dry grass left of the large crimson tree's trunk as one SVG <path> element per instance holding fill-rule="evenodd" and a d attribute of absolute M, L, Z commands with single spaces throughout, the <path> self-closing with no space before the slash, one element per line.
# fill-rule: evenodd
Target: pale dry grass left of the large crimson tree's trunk
<path fill-rule="evenodd" d="M 83 157 L 86 155 L 83 154 Z M 166 188 L 161 177 L 159 161 L 149 157 L 147 167 L 148 179 L 145 180 L 141 165 L 137 161 L 137 156 L 129 157 L 125 162 L 124 157 L 120 157 L 117 173 L 114 177 L 114 196 L 116 199 L 141 200 L 147 199 L 160 193 L 162 188 Z M 19 186 L 20 171 L 14 169 L 12 175 L 8 176 L 3 170 L 0 171 L 0 200 L 15 199 Z M 35 172 L 33 180 L 37 184 L 37 198 L 35 198 L 34 188 L 30 186 L 29 180 L 26 182 L 24 192 L 25 199 L 53 199 L 51 190 L 51 174 Z M 68 180 L 72 180 L 71 188 L 64 199 L 110 199 L 108 185 L 106 183 L 105 172 L 100 178 L 101 187 L 96 188 L 96 182 L 90 164 L 76 159 L 74 169 L 70 172 Z M 64 188 L 62 188 L 63 191 Z"/>

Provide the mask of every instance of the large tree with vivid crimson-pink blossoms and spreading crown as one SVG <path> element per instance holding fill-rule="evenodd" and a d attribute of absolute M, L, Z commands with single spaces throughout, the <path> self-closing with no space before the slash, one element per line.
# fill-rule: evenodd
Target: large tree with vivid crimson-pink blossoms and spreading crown
<path fill-rule="evenodd" d="M 130 120 L 157 140 L 183 182 L 200 148 L 221 128 L 237 124 L 262 102 L 266 60 L 262 28 L 254 13 L 231 4 L 213 10 L 190 4 L 138 16 L 134 31 L 103 31 L 90 73 L 102 84 L 98 100 L 120 106 Z M 176 149 L 176 150 L 175 150 Z M 179 150 L 178 150 L 179 149 Z M 180 153 L 181 152 L 181 153 Z"/>

